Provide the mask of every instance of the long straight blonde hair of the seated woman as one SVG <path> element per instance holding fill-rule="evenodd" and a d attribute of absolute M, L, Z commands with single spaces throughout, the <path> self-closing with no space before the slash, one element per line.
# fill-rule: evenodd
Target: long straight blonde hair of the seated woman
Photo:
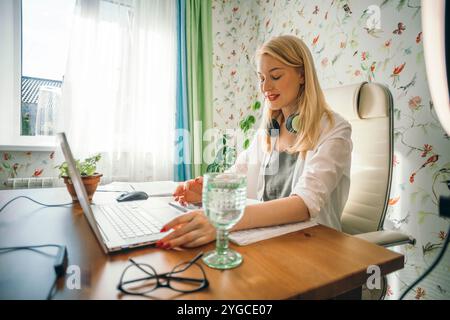
<path fill-rule="evenodd" d="M 287 151 L 289 153 L 300 152 L 304 159 L 306 152 L 312 150 L 318 142 L 322 115 L 326 114 L 330 124 L 334 125 L 334 117 L 320 88 L 311 52 L 301 39 L 284 35 L 264 43 L 256 52 L 256 59 L 264 54 L 270 55 L 290 67 L 299 68 L 303 72 L 305 83 L 301 95 L 297 98 L 298 108 L 296 111 L 300 117 L 299 131 L 294 145 Z M 280 110 L 274 111 L 266 108 L 266 114 L 261 124 L 262 128 L 266 129 L 272 118 L 280 117 L 283 117 Z M 265 142 L 267 151 L 270 151 L 272 146 L 269 134 L 266 135 Z"/>

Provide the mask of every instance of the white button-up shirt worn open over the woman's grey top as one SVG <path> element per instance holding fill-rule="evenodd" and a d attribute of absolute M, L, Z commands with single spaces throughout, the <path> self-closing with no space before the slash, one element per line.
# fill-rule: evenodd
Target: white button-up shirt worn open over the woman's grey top
<path fill-rule="evenodd" d="M 298 195 L 317 223 L 341 230 L 341 215 L 350 189 L 351 125 L 333 112 L 334 126 L 328 118 L 321 120 L 321 134 L 316 147 L 296 162 L 291 195 Z M 265 147 L 265 132 L 259 130 L 247 150 L 239 154 L 228 171 L 247 175 L 247 197 L 262 200 L 264 168 L 272 152 Z M 274 138 L 272 143 L 276 142 Z M 274 144 L 273 144 L 274 145 Z M 276 168 L 275 168 L 276 169 Z M 273 171 L 276 174 L 276 170 Z"/>

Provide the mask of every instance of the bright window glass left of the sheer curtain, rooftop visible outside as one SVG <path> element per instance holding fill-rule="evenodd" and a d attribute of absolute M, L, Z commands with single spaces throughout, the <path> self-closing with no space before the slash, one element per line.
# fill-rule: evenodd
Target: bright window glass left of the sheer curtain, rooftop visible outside
<path fill-rule="evenodd" d="M 21 135 L 53 135 L 76 0 L 22 0 Z"/>

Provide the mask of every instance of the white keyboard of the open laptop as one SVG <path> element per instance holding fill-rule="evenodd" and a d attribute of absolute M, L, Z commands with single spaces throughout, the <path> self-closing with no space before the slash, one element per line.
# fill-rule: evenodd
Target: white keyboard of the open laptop
<path fill-rule="evenodd" d="M 161 222 L 136 206 L 101 205 L 99 208 L 122 239 L 159 233 L 163 226 Z"/>

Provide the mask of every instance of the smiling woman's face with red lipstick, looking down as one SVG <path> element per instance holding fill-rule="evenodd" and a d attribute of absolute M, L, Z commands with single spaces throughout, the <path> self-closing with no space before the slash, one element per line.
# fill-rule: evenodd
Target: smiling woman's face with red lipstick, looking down
<path fill-rule="evenodd" d="M 263 54 L 258 61 L 258 75 L 261 92 L 272 110 L 292 107 L 305 83 L 299 68 L 290 67 L 268 54 Z"/>

